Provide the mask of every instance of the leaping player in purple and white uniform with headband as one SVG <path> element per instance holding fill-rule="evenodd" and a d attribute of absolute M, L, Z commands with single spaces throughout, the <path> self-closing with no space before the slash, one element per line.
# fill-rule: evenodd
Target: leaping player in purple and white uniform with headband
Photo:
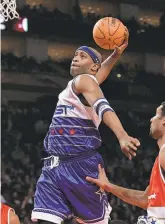
<path fill-rule="evenodd" d="M 99 52 L 90 47 L 76 50 L 70 68 L 73 80 L 59 94 L 44 139 L 48 157 L 36 185 L 33 221 L 60 224 L 74 214 L 79 222 L 108 223 L 111 207 L 107 195 L 85 177 L 90 174 L 97 177 L 98 164 L 103 166 L 102 157 L 96 151 L 101 145 L 98 131 L 101 120 L 115 133 L 129 159 L 136 155 L 140 144 L 128 136 L 99 87 L 127 44 L 128 32 L 124 44 L 103 63 Z"/>

